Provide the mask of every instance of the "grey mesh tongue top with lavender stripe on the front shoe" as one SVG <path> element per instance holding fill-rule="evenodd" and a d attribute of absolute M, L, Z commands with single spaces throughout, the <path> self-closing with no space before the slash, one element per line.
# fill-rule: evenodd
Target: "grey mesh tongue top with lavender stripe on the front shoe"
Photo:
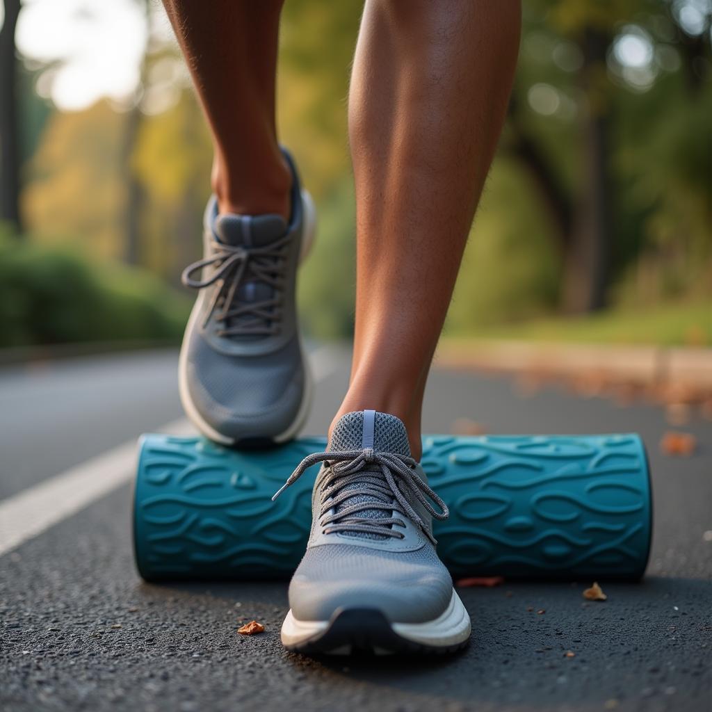
<path fill-rule="evenodd" d="M 330 450 L 359 450 L 372 447 L 377 452 L 410 456 L 408 434 L 400 419 L 375 410 L 343 415 L 334 426 Z"/>

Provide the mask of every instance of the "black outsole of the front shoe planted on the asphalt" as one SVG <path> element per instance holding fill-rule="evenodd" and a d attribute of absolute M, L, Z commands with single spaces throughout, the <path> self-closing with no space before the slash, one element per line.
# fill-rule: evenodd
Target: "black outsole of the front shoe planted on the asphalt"
<path fill-rule="evenodd" d="M 454 645 L 434 646 L 417 643 L 399 636 L 388 619 L 377 609 L 338 609 L 325 631 L 286 649 L 305 655 L 329 654 L 345 647 L 351 654 L 387 653 L 402 655 L 446 655 L 463 649 L 468 640 Z"/>

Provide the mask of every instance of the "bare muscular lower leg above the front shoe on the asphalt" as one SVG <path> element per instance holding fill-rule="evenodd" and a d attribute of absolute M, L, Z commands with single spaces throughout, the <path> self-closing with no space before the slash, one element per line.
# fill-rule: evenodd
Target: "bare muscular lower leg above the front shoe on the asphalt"
<path fill-rule="evenodd" d="M 357 201 L 350 387 L 335 420 L 398 416 L 419 457 L 423 391 L 506 113 L 518 0 L 367 0 L 349 132 Z"/>

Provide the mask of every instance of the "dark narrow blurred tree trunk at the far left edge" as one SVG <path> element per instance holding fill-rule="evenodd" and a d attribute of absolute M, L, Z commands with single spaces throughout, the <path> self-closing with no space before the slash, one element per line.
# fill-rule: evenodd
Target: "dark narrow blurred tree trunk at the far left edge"
<path fill-rule="evenodd" d="M 5 0 L 0 30 L 0 220 L 22 231 L 20 214 L 20 137 L 15 27 L 20 0 Z"/>

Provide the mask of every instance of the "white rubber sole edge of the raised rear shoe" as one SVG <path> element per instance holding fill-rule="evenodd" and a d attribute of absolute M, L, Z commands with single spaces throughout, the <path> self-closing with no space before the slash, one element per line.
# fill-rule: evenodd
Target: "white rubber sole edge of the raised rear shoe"
<path fill-rule="evenodd" d="M 299 251 L 299 263 L 308 256 L 311 251 L 312 245 L 314 243 L 314 238 L 316 234 L 316 207 L 314 201 L 308 191 L 302 189 L 302 206 L 304 210 L 304 233 L 302 244 Z M 199 293 L 197 300 L 193 306 L 190 313 L 188 323 L 186 325 L 183 342 L 181 345 L 180 354 L 178 357 L 178 392 L 180 394 L 180 401 L 187 415 L 188 419 L 196 428 L 206 436 L 206 438 L 219 443 L 221 445 L 232 446 L 239 439 L 228 437 L 211 426 L 205 421 L 205 419 L 199 413 L 197 407 L 195 406 L 193 399 L 190 397 L 190 391 L 188 388 L 188 354 L 187 354 L 187 335 L 192 332 L 195 328 L 195 322 L 199 318 L 202 310 L 202 303 L 204 299 L 204 292 Z M 303 428 L 306 419 L 309 417 L 309 412 L 311 410 L 311 404 L 314 397 L 314 379 L 309 365 L 309 360 L 304 350 L 304 345 L 302 342 L 301 334 L 299 335 L 299 349 L 302 356 L 302 364 L 304 367 L 304 392 L 302 395 L 302 402 L 299 405 L 299 409 L 293 422 L 281 433 L 271 436 L 269 439 L 276 443 L 286 442 L 292 439 L 298 432 Z"/>

